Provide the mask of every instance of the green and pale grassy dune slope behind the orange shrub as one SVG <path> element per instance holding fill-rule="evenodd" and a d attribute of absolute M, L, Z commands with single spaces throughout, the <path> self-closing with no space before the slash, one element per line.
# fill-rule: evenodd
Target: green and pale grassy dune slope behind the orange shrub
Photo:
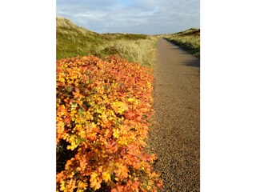
<path fill-rule="evenodd" d="M 57 19 L 57 59 L 94 55 L 105 58 L 118 54 L 130 62 L 153 66 L 157 38 L 146 34 L 98 34 L 75 26 L 66 18 Z"/>

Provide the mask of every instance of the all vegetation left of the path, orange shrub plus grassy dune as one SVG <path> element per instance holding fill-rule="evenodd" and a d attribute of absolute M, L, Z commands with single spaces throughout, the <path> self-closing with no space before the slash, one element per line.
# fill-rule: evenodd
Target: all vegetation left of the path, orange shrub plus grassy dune
<path fill-rule="evenodd" d="M 162 190 L 146 152 L 156 40 L 57 18 L 56 191 Z"/>

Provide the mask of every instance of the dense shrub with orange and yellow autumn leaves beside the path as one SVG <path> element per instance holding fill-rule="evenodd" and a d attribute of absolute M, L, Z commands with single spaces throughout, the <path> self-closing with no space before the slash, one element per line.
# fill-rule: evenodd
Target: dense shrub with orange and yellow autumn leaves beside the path
<path fill-rule="evenodd" d="M 66 148 L 66 154 L 57 151 L 57 161 L 64 161 L 57 191 L 161 188 L 151 166 L 155 155 L 144 152 L 154 114 L 152 80 L 150 68 L 115 56 L 57 61 L 56 142 Z"/>

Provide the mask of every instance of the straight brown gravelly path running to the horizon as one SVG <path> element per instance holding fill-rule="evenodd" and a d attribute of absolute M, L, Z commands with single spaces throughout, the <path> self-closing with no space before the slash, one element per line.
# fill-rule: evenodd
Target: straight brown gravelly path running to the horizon
<path fill-rule="evenodd" d="M 163 191 L 200 191 L 200 62 L 159 38 L 154 69 L 156 122 L 149 146 L 157 154 Z"/>

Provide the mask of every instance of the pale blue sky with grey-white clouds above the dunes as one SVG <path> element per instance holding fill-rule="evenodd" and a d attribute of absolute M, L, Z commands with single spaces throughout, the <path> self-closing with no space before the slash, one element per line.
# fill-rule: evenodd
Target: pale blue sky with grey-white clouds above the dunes
<path fill-rule="evenodd" d="M 57 16 L 98 33 L 169 34 L 200 28 L 200 0 L 57 0 Z"/>

